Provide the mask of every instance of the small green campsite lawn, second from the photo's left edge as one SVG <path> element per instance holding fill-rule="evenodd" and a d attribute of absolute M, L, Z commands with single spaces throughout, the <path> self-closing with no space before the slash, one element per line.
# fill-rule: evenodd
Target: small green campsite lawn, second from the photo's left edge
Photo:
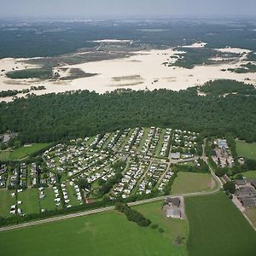
<path fill-rule="evenodd" d="M 25 189 L 22 192 L 18 193 L 18 201 L 22 201 L 22 204 L 19 205 L 22 213 L 39 213 L 39 192 L 38 189 Z"/>

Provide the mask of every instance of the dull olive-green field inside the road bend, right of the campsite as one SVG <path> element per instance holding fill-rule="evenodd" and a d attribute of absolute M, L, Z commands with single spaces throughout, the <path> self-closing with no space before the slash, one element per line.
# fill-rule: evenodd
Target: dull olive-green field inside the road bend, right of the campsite
<path fill-rule="evenodd" d="M 177 172 L 172 184 L 172 195 L 207 191 L 212 188 L 212 183 L 208 173 Z"/>

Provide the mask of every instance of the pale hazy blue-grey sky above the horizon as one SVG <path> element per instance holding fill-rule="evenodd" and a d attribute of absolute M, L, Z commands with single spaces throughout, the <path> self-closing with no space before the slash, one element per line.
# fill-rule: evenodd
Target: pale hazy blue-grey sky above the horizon
<path fill-rule="evenodd" d="M 256 17 L 256 0 L 0 0 L 0 17 L 210 16 Z"/>

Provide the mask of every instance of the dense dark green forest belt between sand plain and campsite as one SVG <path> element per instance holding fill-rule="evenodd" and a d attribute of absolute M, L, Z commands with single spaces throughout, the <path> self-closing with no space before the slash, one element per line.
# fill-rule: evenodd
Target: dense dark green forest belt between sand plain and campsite
<path fill-rule="evenodd" d="M 0 133 L 19 131 L 23 143 L 92 136 L 139 125 L 203 131 L 206 136 L 232 132 L 247 142 L 256 141 L 255 96 L 198 96 L 196 88 L 29 96 L 0 103 L 0 116 Z"/>

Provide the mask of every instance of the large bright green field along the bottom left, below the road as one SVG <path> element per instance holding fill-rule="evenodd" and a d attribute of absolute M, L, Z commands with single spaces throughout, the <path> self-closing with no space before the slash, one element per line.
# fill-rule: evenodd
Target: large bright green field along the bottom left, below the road
<path fill-rule="evenodd" d="M 150 211 L 145 210 L 151 215 Z M 161 220 L 156 222 L 160 223 Z M 17 252 L 26 256 L 187 255 L 185 247 L 172 244 L 172 238 L 167 233 L 168 229 L 172 232 L 172 224 L 163 228 L 166 232 L 161 234 L 158 230 L 129 222 L 119 212 L 104 212 L 3 232 L 0 233 L 0 244 L 4 255 L 15 255 Z M 44 249 L 38 247 L 38 244 L 42 244 L 42 238 L 46 245 Z"/>

